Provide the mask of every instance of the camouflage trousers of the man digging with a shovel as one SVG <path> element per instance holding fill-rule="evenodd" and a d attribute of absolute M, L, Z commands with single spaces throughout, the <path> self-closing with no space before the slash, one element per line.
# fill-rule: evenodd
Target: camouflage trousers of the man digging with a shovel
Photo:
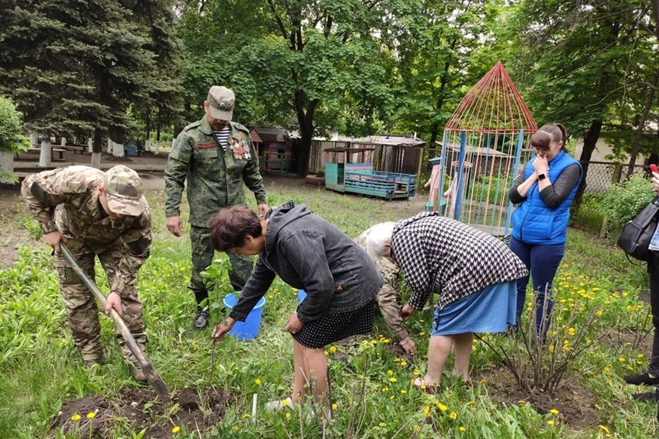
<path fill-rule="evenodd" d="M 67 241 L 67 248 L 78 261 L 80 268 L 92 281 L 95 281 L 94 265 L 95 256 L 97 255 L 108 276 L 108 281 L 112 284 L 114 276 L 117 276 L 117 266 L 122 258 L 119 248 L 116 248 L 116 246 L 111 248 L 102 245 L 93 246 L 73 239 Z M 60 281 L 62 296 L 64 296 L 64 305 L 69 328 L 71 328 L 73 334 L 73 343 L 82 351 L 82 357 L 86 364 L 91 362 L 101 363 L 103 361 L 103 345 L 101 344 L 101 327 L 96 299 L 62 254 L 55 254 L 55 268 Z M 137 297 L 137 289 L 134 286 L 126 287 L 119 294 L 122 296 L 122 318 L 126 322 L 126 326 L 138 344 L 145 344 L 147 337 L 142 327 L 142 303 Z M 124 337 L 116 329 L 115 335 L 119 340 L 124 357 L 130 361 L 135 361 L 128 346 L 126 346 Z"/>

